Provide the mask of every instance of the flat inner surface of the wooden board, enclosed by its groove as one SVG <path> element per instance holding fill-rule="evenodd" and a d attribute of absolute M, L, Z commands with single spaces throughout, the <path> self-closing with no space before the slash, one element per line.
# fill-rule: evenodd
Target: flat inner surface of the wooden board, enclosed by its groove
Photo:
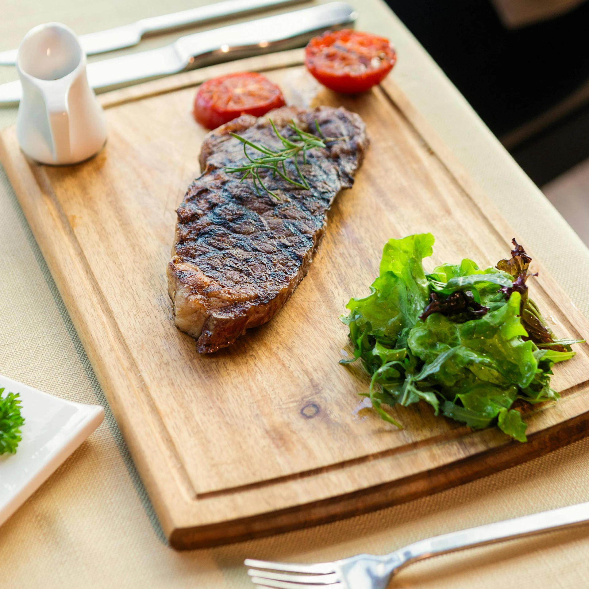
<path fill-rule="evenodd" d="M 284 73 L 271 77 L 280 84 Z M 508 253 L 496 234 L 481 243 L 480 211 L 378 90 L 343 101 L 366 121 L 372 144 L 286 308 L 214 356 L 197 355 L 194 341 L 174 328 L 165 273 L 174 211 L 198 174 L 204 135 L 187 108 L 193 94 L 107 111 L 111 138 L 84 164 L 86 181 L 76 168 L 50 168 L 48 176 L 196 492 L 322 468 L 452 428 L 427 408 L 397 411 L 403 431 L 378 419 L 360 424 L 353 409 L 366 378 L 337 364 L 346 346 L 337 317 L 350 294 L 367 292 L 389 237 L 432 231 L 440 263 L 468 255 L 486 264 Z M 577 362 L 570 385 L 581 382 L 581 363 L 587 373 L 587 360 Z"/>

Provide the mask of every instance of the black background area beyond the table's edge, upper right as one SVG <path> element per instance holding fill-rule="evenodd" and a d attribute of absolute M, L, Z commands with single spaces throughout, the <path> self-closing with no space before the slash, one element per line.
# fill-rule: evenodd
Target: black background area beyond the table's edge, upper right
<path fill-rule="evenodd" d="M 587 102 L 541 122 L 589 84 L 589 2 L 514 30 L 489 0 L 386 2 L 538 186 L 589 157 Z M 531 136 L 514 140 L 538 120 Z"/>

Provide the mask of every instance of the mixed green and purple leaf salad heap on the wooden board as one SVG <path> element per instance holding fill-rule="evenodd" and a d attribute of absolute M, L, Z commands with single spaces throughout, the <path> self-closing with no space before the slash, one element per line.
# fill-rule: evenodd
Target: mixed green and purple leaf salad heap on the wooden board
<path fill-rule="evenodd" d="M 380 274 L 370 294 L 350 299 L 354 357 L 372 376 L 369 396 L 379 415 L 395 426 L 382 405 L 425 401 L 435 415 L 472 428 L 497 423 L 525 442 L 526 424 L 512 405 L 557 401 L 550 387 L 555 362 L 573 358 L 528 297 L 531 258 L 513 240 L 511 259 L 479 269 L 472 260 L 443 264 L 431 274 L 431 233 L 386 243 Z M 518 403 L 525 406 L 525 403 Z"/>

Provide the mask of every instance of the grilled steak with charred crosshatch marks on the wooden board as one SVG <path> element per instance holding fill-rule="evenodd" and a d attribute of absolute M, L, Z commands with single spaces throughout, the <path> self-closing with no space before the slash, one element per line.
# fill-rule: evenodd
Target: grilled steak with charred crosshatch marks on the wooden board
<path fill-rule="evenodd" d="M 317 134 L 326 149 L 307 152 L 299 168 L 310 190 L 279 176 L 260 174 L 258 194 L 250 178 L 228 173 L 227 166 L 247 163 L 243 144 L 233 131 L 256 144 L 282 149 L 269 119 L 285 136 L 294 120 L 307 133 Z M 362 119 L 344 108 L 303 110 L 278 108 L 266 117 L 241 117 L 212 131 L 200 154 L 203 174 L 188 187 L 177 210 L 176 239 L 168 264 L 168 288 L 176 326 L 198 339 L 200 353 L 229 346 L 249 327 L 272 319 L 303 279 L 323 237 L 326 214 L 342 188 L 353 184 L 368 140 Z M 256 157 L 259 153 L 248 148 Z M 296 178 L 292 161 L 288 176 Z"/>

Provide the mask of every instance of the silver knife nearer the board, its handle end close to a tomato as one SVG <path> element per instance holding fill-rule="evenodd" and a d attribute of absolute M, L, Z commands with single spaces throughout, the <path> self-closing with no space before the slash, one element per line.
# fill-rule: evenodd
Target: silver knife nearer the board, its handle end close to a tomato
<path fill-rule="evenodd" d="M 331 2 L 186 35 L 166 47 L 88 64 L 88 83 L 105 92 L 203 65 L 303 47 L 320 32 L 353 24 L 356 18 L 349 4 Z M 21 92 L 19 80 L 0 85 L 0 104 L 18 102 Z"/>

